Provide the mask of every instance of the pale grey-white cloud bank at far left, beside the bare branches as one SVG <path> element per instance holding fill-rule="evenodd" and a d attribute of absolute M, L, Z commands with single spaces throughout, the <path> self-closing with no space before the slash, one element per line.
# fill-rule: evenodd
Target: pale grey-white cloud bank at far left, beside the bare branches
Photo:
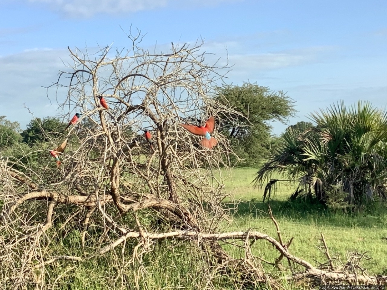
<path fill-rule="evenodd" d="M 50 101 L 43 86 L 57 80 L 58 71 L 64 69 L 61 58 L 68 59 L 64 49 L 29 49 L 0 57 L 0 100 L 7 104 L 0 106 L 0 116 L 18 121 L 23 127 L 33 118 L 24 106 L 37 118 L 54 116 L 55 92 L 50 92 Z"/>

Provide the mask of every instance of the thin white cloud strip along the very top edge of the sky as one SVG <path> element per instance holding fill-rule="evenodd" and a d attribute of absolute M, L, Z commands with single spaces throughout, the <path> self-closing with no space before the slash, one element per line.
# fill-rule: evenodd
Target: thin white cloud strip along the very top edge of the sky
<path fill-rule="evenodd" d="M 172 7 L 208 6 L 241 0 L 24 0 L 29 3 L 50 5 L 51 9 L 69 17 L 91 17 L 95 14 L 123 14 L 150 10 L 170 5 Z"/>

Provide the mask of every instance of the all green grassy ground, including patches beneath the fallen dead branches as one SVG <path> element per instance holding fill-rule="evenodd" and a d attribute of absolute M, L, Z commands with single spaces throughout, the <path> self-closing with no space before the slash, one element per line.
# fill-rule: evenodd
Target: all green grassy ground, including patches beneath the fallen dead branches
<path fill-rule="evenodd" d="M 238 208 L 228 223 L 224 223 L 224 231 L 233 230 L 258 230 L 272 237 L 277 237 L 276 228 L 267 214 L 267 203 L 262 202 L 263 189 L 253 188 L 256 169 L 235 168 L 223 171 L 226 177 L 225 191 L 230 198 L 225 200 L 228 206 L 232 198 L 239 200 Z M 387 210 L 382 205 L 364 208 L 358 212 L 344 212 L 342 210 L 329 210 L 321 205 L 310 205 L 303 200 L 289 202 L 290 194 L 295 188 L 294 184 L 283 183 L 277 188 L 277 193 L 272 194 L 270 205 L 272 212 L 279 223 L 283 240 L 286 243 L 291 237 L 294 240 L 289 251 L 301 259 L 317 266 L 318 262 L 325 263 L 327 258 L 320 250 L 320 233 L 323 233 L 329 247 L 331 256 L 347 260 L 348 251 L 366 254 L 372 259 L 363 260 L 363 266 L 370 275 L 387 273 Z M 52 229 L 54 230 L 54 229 Z M 61 234 L 57 232 L 58 239 L 52 242 L 52 251 L 62 252 L 63 255 L 87 254 L 87 247 L 82 249 L 80 232 Z M 179 246 L 176 246 L 176 242 Z M 122 268 L 120 255 L 107 252 L 99 258 L 83 263 L 63 263 L 62 266 L 52 268 L 50 275 L 57 276 L 55 281 L 57 289 L 74 290 L 100 290 L 115 287 L 117 289 L 197 289 L 196 285 L 202 279 L 202 258 L 197 252 L 191 252 L 184 241 L 162 240 L 154 244 L 154 250 L 142 259 L 144 272 L 141 280 L 134 279 L 136 267 Z M 242 243 L 241 243 L 242 244 Z M 52 247 L 55 247 L 52 248 Z M 127 244 L 130 247 L 130 244 Z M 230 254 L 238 257 L 240 253 L 235 246 L 223 246 Z M 76 252 L 78 249 L 78 253 Z M 71 250 L 71 251 L 70 251 Z M 75 251 L 75 252 L 74 252 Z M 241 251 L 242 252 L 242 251 Z M 265 241 L 256 241 L 252 246 L 254 256 L 274 262 L 278 252 L 271 244 Z M 135 262 L 137 263 L 137 262 Z M 271 265 L 264 264 L 265 270 L 279 277 L 289 274 L 289 271 L 278 271 Z M 288 270 L 288 263 L 283 259 L 284 269 Z M 210 288 L 234 289 L 228 283 L 226 276 L 214 279 Z M 130 285 L 130 286 L 128 286 Z M 287 284 L 283 281 L 284 289 L 300 289 L 300 286 Z M 124 287 L 124 288 L 122 288 Z M 129 287 L 129 288 L 128 288 Z M 305 286 L 304 286 L 305 287 Z"/>

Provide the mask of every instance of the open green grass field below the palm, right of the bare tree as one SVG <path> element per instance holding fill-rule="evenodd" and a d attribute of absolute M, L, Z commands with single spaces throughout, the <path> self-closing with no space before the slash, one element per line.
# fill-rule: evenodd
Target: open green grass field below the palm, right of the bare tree
<path fill-rule="evenodd" d="M 232 222 L 225 230 L 255 229 L 277 237 L 274 224 L 267 215 L 267 203 L 262 202 L 263 189 L 254 189 L 251 181 L 257 170 L 233 169 L 226 181 L 226 192 L 241 202 Z M 326 262 L 320 251 L 320 233 L 327 241 L 330 254 L 338 254 L 346 261 L 348 251 L 367 252 L 372 257 L 364 261 L 368 273 L 387 274 L 387 209 L 384 205 L 351 213 L 329 210 L 315 204 L 287 201 L 294 191 L 294 184 L 281 184 L 277 194 L 271 197 L 270 205 L 279 222 L 283 239 L 294 237 L 289 250 L 317 266 Z M 256 243 L 253 253 L 266 260 L 274 261 L 278 254 L 264 241 Z"/>

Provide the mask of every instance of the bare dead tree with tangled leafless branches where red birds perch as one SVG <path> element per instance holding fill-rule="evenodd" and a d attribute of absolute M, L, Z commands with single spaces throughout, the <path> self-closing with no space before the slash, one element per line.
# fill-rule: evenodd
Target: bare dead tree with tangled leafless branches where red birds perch
<path fill-rule="evenodd" d="M 286 258 L 305 268 L 291 279 L 314 275 L 380 281 L 319 270 L 293 256 L 291 241 L 282 241 L 271 211 L 279 241 L 252 230 L 219 232 L 228 217 L 222 206 L 226 195 L 221 168 L 229 166 L 233 152 L 216 131 L 218 145 L 212 150 L 200 147 L 200 139 L 180 123 L 238 114 L 226 101 L 211 98 L 222 75 L 216 63 L 205 62 L 201 42 L 172 44 L 168 53 L 151 53 L 139 48 L 140 35 L 128 39 L 131 48 L 122 51 L 68 48 L 72 65 L 60 72 L 53 87 L 67 90 L 60 104 L 68 112 L 64 117 L 75 112 L 82 117 L 63 137 L 52 140 L 56 148 L 68 139 L 59 168 L 43 149 L 39 164 L 7 158 L 0 163 L 0 283 L 5 288 L 27 289 L 31 283 L 36 289 L 55 288 L 77 264 L 109 253 L 119 261 L 116 279 L 121 285 L 123 269 L 136 265 L 135 288 L 140 288 L 144 257 L 154 251 L 156 241 L 165 239 L 184 241 L 200 257 L 199 288 L 214 288 L 215 277 L 222 275 L 237 288 L 262 283 L 281 288 L 252 254 L 249 241 L 257 239 L 279 251 L 273 265 Z M 98 96 L 108 102 L 108 110 L 99 105 Z M 152 133 L 152 148 L 142 136 L 144 129 Z M 58 241 L 74 230 L 80 246 L 63 252 Z M 244 256 L 233 258 L 221 241 L 242 242 Z M 66 263 L 70 266 L 60 275 L 49 274 Z"/>

